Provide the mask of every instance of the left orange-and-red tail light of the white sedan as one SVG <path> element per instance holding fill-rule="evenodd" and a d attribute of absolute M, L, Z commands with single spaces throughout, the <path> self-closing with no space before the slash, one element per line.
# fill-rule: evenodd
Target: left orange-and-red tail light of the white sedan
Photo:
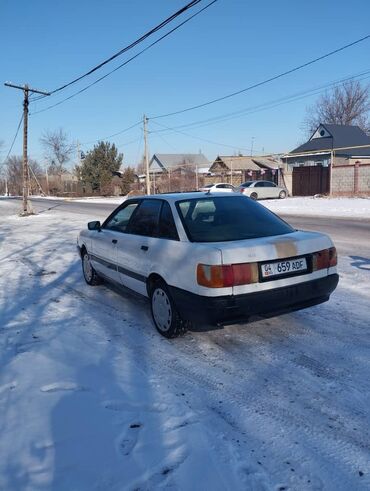
<path fill-rule="evenodd" d="M 226 288 L 230 286 L 257 283 L 257 263 L 227 264 L 211 266 L 198 264 L 198 285 L 208 288 Z"/>

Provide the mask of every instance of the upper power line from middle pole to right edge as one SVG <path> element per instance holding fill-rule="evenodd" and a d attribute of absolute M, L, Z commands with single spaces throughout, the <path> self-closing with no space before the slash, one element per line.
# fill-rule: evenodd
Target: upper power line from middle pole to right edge
<path fill-rule="evenodd" d="M 182 113 L 185 113 L 185 112 L 188 112 L 188 111 L 193 111 L 194 109 L 199 109 L 201 107 L 209 106 L 210 104 L 214 104 L 216 102 L 224 101 L 225 99 L 229 99 L 230 97 L 234 97 L 236 95 L 242 94 L 244 92 L 247 92 L 249 90 L 255 89 L 257 87 L 261 87 L 262 85 L 268 84 L 268 83 L 270 83 L 270 82 L 272 82 L 274 80 L 277 80 L 279 78 L 285 77 L 286 75 L 289 75 L 289 74 L 294 73 L 294 72 L 296 72 L 298 70 L 301 70 L 302 68 L 305 68 L 305 67 L 307 67 L 309 65 L 313 65 L 314 63 L 317 63 L 320 60 L 324 60 L 325 58 L 328 58 L 329 56 L 332 56 L 332 55 L 334 55 L 336 53 L 339 53 L 339 52 L 341 52 L 341 51 L 343 51 L 343 50 L 345 50 L 347 48 L 350 48 L 351 46 L 354 46 L 356 44 L 359 44 L 359 43 L 361 43 L 363 41 L 366 41 L 369 38 L 370 38 L 370 34 L 368 34 L 367 36 L 364 36 L 364 37 L 362 37 L 360 39 L 357 39 L 356 41 L 353 41 L 352 43 L 346 44 L 346 45 L 344 45 L 344 46 L 342 46 L 340 48 L 337 48 L 337 49 L 335 49 L 333 51 L 330 51 L 329 53 L 326 53 L 326 54 L 324 54 L 322 56 L 319 56 L 317 58 L 314 58 L 313 60 L 310 60 L 310 61 L 308 61 L 306 63 L 303 63 L 302 65 L 298 65 L 298 66 L 296 66 L 294 68 L 291 68 L 290 70 L 287 70 L 285 72 L 279 73 L 278 75 L 274 75 L 273 77 L 270 77 L 270 78 L 268 78 L 266 80 L 263 80 L 261 82 L 258 82 L 256 84 L 250 85 L 249 87 L 246 87 L 245 89 L 237 90 L 236 92 L 232 92 L 232 93 L 227 94 L 227 95 L 224 95 L 222 97 L 218 97 L 216 99 L 212 99 L 210 101 L 204 102 L 202 104 L 197 104 L 195 106 L 190 106 L 190 107 L 187 107 L 185 109 L 180 109 L 178 111 L 173 111 L 173 112 L 166 113 L 166 114 L 160 114 L 158 116 L 152 116 L 149 119 L 152 119 L 153 120 L 153 119 L 159 119 L 159 118 L 166 118 L 168 116 L 174 116 L 175 114 L 182 114 Z"/>

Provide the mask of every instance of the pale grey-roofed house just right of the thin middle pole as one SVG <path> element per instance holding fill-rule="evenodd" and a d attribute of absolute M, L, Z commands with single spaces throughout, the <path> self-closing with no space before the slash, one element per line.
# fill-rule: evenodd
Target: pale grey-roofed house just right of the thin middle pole
<path fill-rule="evenodd" d="M 150 174 L 179 172 L 186 174 L 188 170 L 198 171 L 209 169 L 209 161 L 202 153 L 155 153 L 149 162 Z"/>

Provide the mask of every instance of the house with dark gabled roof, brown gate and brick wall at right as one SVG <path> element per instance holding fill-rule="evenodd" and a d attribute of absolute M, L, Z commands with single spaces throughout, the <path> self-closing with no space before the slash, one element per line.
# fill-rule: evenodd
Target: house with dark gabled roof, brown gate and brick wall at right
<path fill-rule="evenodd" d="M 320 124 L 283 156 L 292 194 L 370 194 L 370 137 L 358 126 Z"/>

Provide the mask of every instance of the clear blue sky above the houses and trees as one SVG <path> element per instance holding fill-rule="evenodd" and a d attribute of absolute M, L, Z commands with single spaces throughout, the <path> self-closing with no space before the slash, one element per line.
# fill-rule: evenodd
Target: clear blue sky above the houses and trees
<path fill-rule="evenodd" d="M 22 93 L 4 87 L 3 82 L 52 90 L 109 57 L 185 3 L 186 0 L 2 0 L 1 157 L 8 151 L 22 111 Z M 63 128 L 71 140 L 78 140 L 81 148 L 88 150 L 94 140 L 131 126 L 144 113 L 150 118 L 240 90 L 369 34 L 369 18 L 368 0 L 218 0 L 83 94 L 48 111 L 31 114 L 29 154 L 42 163 L 39 139 L 46 130 Z M 252 139 L 254 154 L 290 150 L 304 140 L 305 110 L 317 95 L 246 111 L 226 121 L 178 127 L 258 107 L 365 72 L 370 70 L 369 53 L 367 40 L 253 91 L 181 115 L 153 119 L 149 121 L 150 153 L 201 150 L 212 160 L 218 154 L 250 153 Z M 58 102 L 127 58 L 124 55 L 59 95 L 32 104 L 30 112 Z M 365 79 L 364 83 L 369 81 L 370 78 Z M 178 129 L 158 132 L 164 127 Z M 140 125 L 111 141 L 124 153 L 126 165 L 136 164 L 141 158 Z M 20 134 L 13 154 L 21 151 Z"/>

